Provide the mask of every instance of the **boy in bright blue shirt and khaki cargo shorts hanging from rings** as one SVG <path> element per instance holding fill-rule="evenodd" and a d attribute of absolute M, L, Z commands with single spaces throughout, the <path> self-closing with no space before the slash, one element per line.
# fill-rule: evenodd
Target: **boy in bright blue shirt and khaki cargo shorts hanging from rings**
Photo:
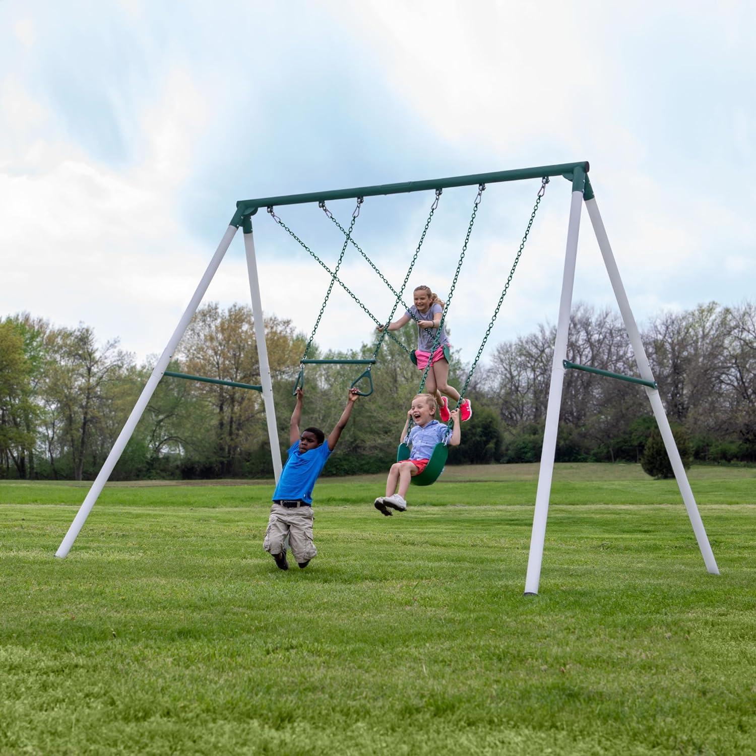
<path fill-rule="evenodd" d="M 287 536 L 300 569 L 305 569 L 318 553 L 312 543 L 312 488 L 339 441 L 358 396 L 357 389 L 349 389 L 349 401 L 326 441 L 319 428 L 305 428 L 299 433 L 304 392 L 296 389 L 296 405 L 289 424 L 289 458 L 273 492 L 271 516 L 262 543 L 265 551 L 275 559 L 278 569 L 289 569 Z"/>

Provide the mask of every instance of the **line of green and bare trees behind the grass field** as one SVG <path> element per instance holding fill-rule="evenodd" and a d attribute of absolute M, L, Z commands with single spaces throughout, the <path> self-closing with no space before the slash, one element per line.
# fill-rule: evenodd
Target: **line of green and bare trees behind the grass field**
<path fill-rule="evenodd" d="M 281 448 L 287 448 L 292 389 L 306 336 L 290 321 L 267 318 L 265 334 Z M 374 393 L 358 401 L 327 474 L 383 472 L 417 391 L 411 326 L 383 342 L 373 367 Z M 479 364 L 467 395 L 474 414 L 450 463 L 540 459 L 556 328 L 498 344 Z M 668 417 L 694 459 L 756 461 L 756 307 L 711 302 L 666 312 L 642 331 Z M 453 340 L 453 334 L 452 334 Z M 335 355 L 364 358 L 373 345 Z M 618 314 L 578 304 L 568 359 L 636 375 Z M 56 327 L 30 314 L 0 322 L 0 476 L 91 479 L 107 457 L 151 373 L 113 339 L 98 342 L 83 324 Z M 350 383 L 364 366 L 308 366 L 303 422 L 327 432 Z M 453 357 L 462 386 L 468 366 Z M 169 370 L 239 383 L 260 383 L 253 314 L 243 305 L 200 308 Z M 568 370 L 562 395 L 557 461 L 637 462 L 655 426 L 640 386 Z M 265 409 L 259 392 L 164 377 L 125 448 L 113 479 L 267 477 L 272 474 Z"/>

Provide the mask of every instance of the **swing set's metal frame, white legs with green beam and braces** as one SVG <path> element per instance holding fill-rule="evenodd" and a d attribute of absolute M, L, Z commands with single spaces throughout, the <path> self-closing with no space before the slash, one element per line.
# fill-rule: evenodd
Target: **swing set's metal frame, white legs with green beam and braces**
<path fill-rule="evenodd" d="M 358 200 L 359 207 L 361 203 L 360 200 L 364 199 L 364 197 L 376 197 L 388 194 L 404 194 L 417 191 L 435 191 L 436 197 L 438 199 L 440 190 L 451 187 L 463 187 L 475 184 L 478 184 L 479 187 L 481 187 L 485 186 L 485 184 L 496 184 L 504 181 L 523 181 L 535 178 L 545 181 L 545 179 L 547 178 L 561 176 L 571 182 L 572 197 L 570 202 L 569 223 L 565 245 L 565 262 L 562 271 L 562 290 L 559 299 L 559 318 L 556 327 L 556 340 L 554 344 L 551 382 L 546 413 L 546 425 L 544 429 L 544 441 L 541 451 L 541 467 L 538 475 L 538 489 L 535 498 L 530 551 L 528 553 L 528 569 L 525 576 L 525 595 L 527 596 L 537 594 L 541 579 L 541 564 L 543 560 L 546 522 L 551 491 L 551 481 L 553 476 L 554 457 L 556 452 L 556 433 L 559 425 L 559 412 L 562 403 L 562 385 L 564 381 L 565 370 L 573 369 L 583 370 L 589 373 L 595 373 L 601 376 L 624 380 L 643 386 L 643 389 L 645 390 L 646 395 L 649 398 L 649 402 L 651 404 L 652 412 L 658 425 L 659 432 L 661 433 L 662 439 L 665 443 L 665 448 L 671 461 L 674 476 L 677 480 L 677 485 L 680 488 L 680 494 L 682 494 L 683 503 L 685 504 L 693 532 L 696 536 L 696 541 L 698 542 L 699 549 L 701 550 L 705 567 L 707 571 L 712 575 L 718 575 L 719 569 L 717 568 L 717 562 L 714 559 L 714 553 L 711 550 L 711 545 L 709 544 L 708 537 L 706 535 L 706 531 L 699 514 L 698 507 L 696 505 L 696 500 L 693 497 L 692 490 L 690 488 L 686 472 L 683 467 L 683 462 L 680 459 L 680 453 L 677 450 L 677 445 L 674 442 L 674 437 L 667 420 L 667 415 L 665 414 L 664 406 L 662 405 L 662 399 L 659 396 L 651 366 L 646 356 L 646 351 L 643 348 L 643 342 L 640 339 L 640 332 L 631 311 L 630 304 L 627 300 L 627 294 L 625 293 L 624 285 L 622 283 L 619 270 L 615 262 L 615 257 L 612 253 L 612 247 L 609 244 L 609 237 L 606 234 L 606 229 L 604 228 L 603 220 L 601 218 L 598 205 L 596 204 L 596 197 L 593 194 L 593 187 L 588 178 L 588 170 L 588 163 L 581 161 L 578 163 L 561 163 L 553 166 L 536 166 L 533 168 L 499 171 L 492 173 L 480 173 L 465 176 L 454 176 L 451 178 L 429 179 L 426 181 L 407 181 L 400 184 L 380 184 L 376 186 L 355 187 L 351 189 L 340 189 L 335 191 L 311 192 L 308 194 L 291 194 L 280 197 L 262 197 L 255 200 L 238 201 L 236 212 L 234 212 L 234 215 L 231 218 L 231 222 L 228 225 L 225 234 L 223 234 L 218 247 L 215 249 L 215 254 L 212 256 L 212 259 L 210 260 L 209 265 L 207 266 L 206 271 L 203 274 L 202 279 L 200 280 L 200 283 L 197 285 L 197 289 L 194 291 L 194 295 L 191 297 L 187 308 L 184 310 L 184 314 L 181 315 L 181 319 L 178 322 L 178 325 L 175 327 L 175 330 L 173 331 L 172 336 L 170 337 L 169 342 L 166 345 L 166 348 L 163 349 L 163 353 L 160 355 L 160 358 L 156 362 L 153 372 L 150 375 L 150 378 L 147 380 L 147 384 L 144 386 L 144 389 L 142 390 L 141 395 L 139 396 L 134 408 L 132 409 L 131 414 L 129 414 L 129 418 L 128 420 L 126 420 L 125 425 L 119 433 L 119 436 L 116 439 L 116 442 L 113 445 L 110 454 L 108 454 L 107 459 L 105 460 L 100 472 L 98 473 L 97 478 L 92 483 L 91 488 L 89 489 L 88 494 L 85 497 L 85 500 L 83 501 L 81 507 L 79 507 L 79 511 L 76 514 L 76 517 L 73 519 L 73 522 L 71 523 L 70 528 L 68 529 L 63 541 L 61 541 L 60 547 L 58 547 L 55 556 L 63 558 L 69 553 L 74 541 L 76 541 L 76 537 L 78 536 L 79 531 L 81 531 L 82 526 L 84 525 L 89 513 L 91 512 L 92 507 L 95 506 L 95 502 L 97 501 L 102 489 L 104 488 L 107 479 L 110 478 L 110 474 L 111 472 L 113 472 L 113 467 L 119 460 L 119 457 L 121 456 L 125 445 L 127 444 L 127 442 L 129 442 L 129 438 L 131 438 L 139 419 L 144 413 L 144 410 L 147 407 L 147 403 L 150 401 L 150 398 L 152 397 L 157 384 L 160 382 L 163 376 L 167 375 L 188 380 L 206 380 L 210 383 L 222 383 L 224 385 L 238 386 L 239 388 L 260 391 L 262 393 L 262 398 L 265 404 L 265 416 L 268 426 L 268 438 L 270 439 L 271 445 L 274 476 L 276 482 L 278 481 L 281 472 L 280 445 L 277 435 L 277 424 L 273 402 L 273 389 L 271 383 L 270 366 L 268 363 L 268 351 L 265 345 L 265 327 L 263 321 L 262 301 L 260 297 L 259 277 L 256 262 L 256 250 L 252 228 L 253 215 L 255 215 L 260 208 L 272 209 L 277 206 L 316 202 L 321 203 L 321 207 L 324 207 L 324 203 L 328 200 L 344 199 Z M 617 300 L 618 308 L 621 313 L 621 318 L 624 322 L 624 327 L 627 330 L 627 335 L 631 342 L 640 377 L 621 376 L 617 373 L 610 373 L 609 371 L 599 370 L 587 365 L 574 364 L 567 360 L 566 352 L 567 336 L 569 330 L 569 314 L 572 307 L 572 292 L 575 282 L 575 260 L 577 256 L 578 234 L 580 230 L 581 209 L 583 204 L 585 204 L 588 215 L 590 217 L 590 222 L 593 226 L 593 232 L 596 235 L 596 240 L 603 257 L 603 262 L 606 266 L 606 271 L 609 274 L 612 290 L 614 291 L 615 299 Z M 355 212 L 357 212 L 358 214 L 358 211 L 355 210 Z M 273 215 L 275 218 L 273 212 L 271 212 L 271 215 Z M 352 244 L 354 244 L 354 246 L 357 246 L 351 239 L 351 231 L 352 227 L 354 226 L 355 217 L 356 215 L 353 215 L 352 225 L 350 226 L 349 231 L 345 231 L 344 249 L 350 243 L 350 241 L 352 241 Z M 234 382 L 226 382 L 218 379 L 203 379 L 200 376 L 190 376 L 184 373 L 171 373 L 169 370 L 167 370 L 167 368 L 175 352 L 175 349 L 178 346 L 178 342 L 180 341 L 181 336 L 183 336 L 184 331 L 191 321 L 191 318 L 194 316 L 195 311 L 197 311 L 197 307 L 200 305 L 200 302 L 207 290 L 207 287 L 209 286 L 210 281 L 212 280 L 212 277 L 218 270 L 218 265 L 220 265 L 226 251 L 228 250 L 228 247 L 231 245 L 231 241 L 234 239 L 234 236 L 236 235 L 239 228 L 242 228 L 243 230 L 247 272 L 249 275 L 249 292 L 252 299 L 253 316 L 255 321 L 255 336 L 259 354 L 261 386 L 253 386 L 250 384 L 236 384 Z M 339 226 L 339 228 L 342 227 Z M 528 225 L 528 230 L 529 228 L 530 225 Z M 344 231 L 343 228 L 342 231 Z M 291 231 L 289 231 L 289 233 L 294 236 Z M 423 231 L 423 237 L 424 234 L 425 232 Z M 305 245 L 302 244 L 302 246 Z M 308 248 L 305 246 L 305 249 Z M 417 251 L 419 251 L 419 249 L 420 245 L 418 246 Z M 308 249 L 308 251 L 310 250 Z M 522 252 L 522 246 L 520 248 L 520 252 Z M 339 264 L 341 262 L 341 259 L 342 258 L 339 258 Z M 318 260 L 318 262 L 321 261 Z M 324 264 L 321 262 L 321 265 Z M 336 269 L 334 269 L 334 271 L 329 270 L 329 273 L 331 274 L 331 287 L 333 287 L 333 283 L 338 280 L 336 276 L 337 272 L 338 265 L 336 266 Z M 457 268 L 457 274 L 458 273 L 459 268 Z M 510 280 L 511 275 L 512 274 L 510 274 Z M 409 271 L 407 273 L 407 277 L 408 276 Z M 342 287 L 344 286 L 341 281 L 339 281 L 339 283 L 342 285 Z M 386 283 L 388 282 L 386 281 Z M 404 283 L 406 284 L 406 280 Z M 507 285 L 508 283 L 509 281 L 507 281 Z M 506 293 L 506 287 L 503 294 L 504 293 Z M 364 305 L 362 305 L 354 295 L 352 296 L 356 301 L 358 301 L 363 309 L 367 311 L 367 308 L 365 308 Z M 396 305 L 398 305 L 399 301 L 401 301 L 401 293 L 399 293 L 397 296 Z M 501 304 L 501 300 L 499 304 Z M 371 315 L 371 317 L 373 316 Z M 491 324 L 492 323 L 493 321 L 491 321 Z M 489 326 L 489 333 L 490 330 L 491 327 Z M 487 336 L 488 333 L 486 333 L 486 337 Z M 479 356 L 480 352 L 478 358 Z M 476 361 L 478 358 L 476 358 Z M 306 359 L 306 352 L 305 358 L 303 359 Z M 369 361 L 369 367 L 372 367 L 372 364 L 373 361 Z"/>

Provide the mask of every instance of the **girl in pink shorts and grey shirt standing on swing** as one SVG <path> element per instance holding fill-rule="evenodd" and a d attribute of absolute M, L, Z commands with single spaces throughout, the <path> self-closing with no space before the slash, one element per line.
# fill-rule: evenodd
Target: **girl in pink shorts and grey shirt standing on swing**
<path fill-rule="evenodd" d="M 389 323 L 389 330 L 399 330 L 402 326 L 414 320 L 417 323 L 417 349 L 415 358 L 417 358 L 417 369 L 423 371 L 426 369 L 428 360 L 431 361 L 431 367 L 426 376 L 426 392 L 432 394 L 438 402 L 438 418 L 442 423 L 449 422 L 449 399 L 457 404 L 460 401 L 460 394 L 454 386 L 449 386 L 449 363 L 444 355 L 444 348 L 448 348 L 449 339 L 446 336 L 446 329 L 442 328 L 441 336 L 438 338 L 438 345 L 435 352 L 431 355 L 430 349 L 435 340 L 435 331 L 441 324 L 444 302 L 438 299 L 438 295 L 430 290 L 430 287 L 419 286 L 414 290 L 415 303 L 409 308 L 398 321 Z M 376 330 L 383 331 L 384 326 L 378 326 Z M 447 398 L 448 397 L 448 398 Z M 469 399 L 464 399 L 460 404 L 460 420 L 466 422 L 472 417 L 472 406 Z"/>

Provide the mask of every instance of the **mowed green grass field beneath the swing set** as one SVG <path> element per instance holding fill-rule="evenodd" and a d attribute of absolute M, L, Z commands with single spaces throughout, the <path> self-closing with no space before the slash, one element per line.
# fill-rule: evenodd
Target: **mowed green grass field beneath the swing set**
<path fill-rule="evenodd" d="M 308 569 L 271 485 L 0 483 L 2 754 L 754 754 L 756 469 L 449 468 L 411 507 L 321 479 Z M 432 497 L 432 498 L 430 498 Z"/>

